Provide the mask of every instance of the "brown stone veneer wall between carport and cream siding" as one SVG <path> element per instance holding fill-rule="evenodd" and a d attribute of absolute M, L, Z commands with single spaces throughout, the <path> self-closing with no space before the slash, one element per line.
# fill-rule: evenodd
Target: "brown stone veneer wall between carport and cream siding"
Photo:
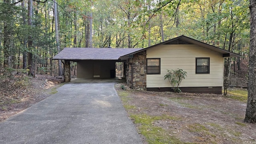
<path fill-rule="evenodd" d="M 146 90 L 146 62 L 146 50 L 134 54 L 126 62 L 126 82 L 130 88 Z"/>

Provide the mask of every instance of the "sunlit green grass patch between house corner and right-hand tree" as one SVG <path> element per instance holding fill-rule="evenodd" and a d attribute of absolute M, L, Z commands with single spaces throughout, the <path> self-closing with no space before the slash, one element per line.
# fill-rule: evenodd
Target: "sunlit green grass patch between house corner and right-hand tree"
<path fill-rule="evenodd" d="M 248 97 L 247 90 L 228 90 L 227 97 L 232 98 L 234 100 L 238 100 L 240 102 L 246 102 Z"/>

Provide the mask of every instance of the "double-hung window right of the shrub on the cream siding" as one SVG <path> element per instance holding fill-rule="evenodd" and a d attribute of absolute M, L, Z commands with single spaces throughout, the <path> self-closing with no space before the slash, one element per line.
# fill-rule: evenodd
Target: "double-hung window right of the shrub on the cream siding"
<path fill-rule="evenodd" d="M 210 58 L 196 58 L 196 74 L 210 74 Z"/>

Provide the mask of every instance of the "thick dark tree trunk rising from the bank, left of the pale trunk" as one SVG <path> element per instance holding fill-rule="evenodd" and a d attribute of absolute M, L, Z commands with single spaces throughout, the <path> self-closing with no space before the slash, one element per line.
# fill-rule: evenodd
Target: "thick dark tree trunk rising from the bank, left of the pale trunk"
<path fill-rule="evenodd" d="M 28 26 L 32 26 L 32 16 L 33 16 L 33 5 L 32 5 L 32 0 L 28 0 Z M 32 51 L 33 51 L 33 40 L 32 40 L 32 36 L 28 36 L 28 49 L 29 49 L 29 52 L 28 52 L 28 69 L 29 69 L 29 72 L 28 74 L 29 75 L 32 75 L 34 76 L 34 64 L 33 64 L 33 54 L 32 54 Z"/>

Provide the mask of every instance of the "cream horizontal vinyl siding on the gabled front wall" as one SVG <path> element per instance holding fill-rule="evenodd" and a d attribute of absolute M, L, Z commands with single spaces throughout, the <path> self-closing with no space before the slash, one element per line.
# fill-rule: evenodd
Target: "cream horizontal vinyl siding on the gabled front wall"
<path fill-rule="evenodd" d="M 148 49 L 147 58 L 161 58 L 161 74 L 147 74 L 147 88 L 170 87 L 164 75 L 178 68 L 187 72 L 180 87 L 222 86 L 223 57 L 218 52 L 194 44 L 166 44 Z M 196 58 L 210 58 L 210 74 L 196 74 Z"/>

